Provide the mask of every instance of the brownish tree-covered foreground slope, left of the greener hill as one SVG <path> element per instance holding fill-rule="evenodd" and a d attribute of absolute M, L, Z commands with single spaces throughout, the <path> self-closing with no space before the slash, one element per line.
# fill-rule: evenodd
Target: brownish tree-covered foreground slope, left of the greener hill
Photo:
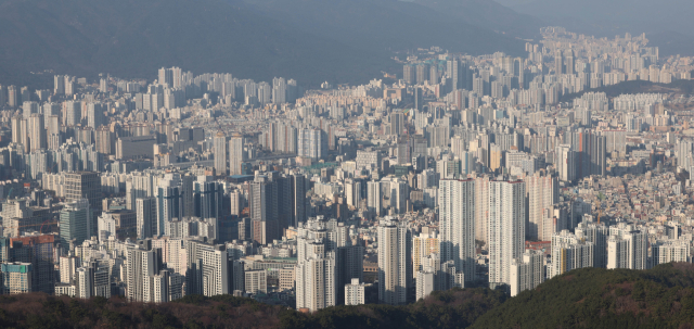
<path fill-rule="evenodd" d="M 0 328 L 465 328 L 505 299 L 458 289 L 408 306 L 338 306 L 309 316 L 231 295 L 144 304 L 29 293 L 0 295 Z"/>

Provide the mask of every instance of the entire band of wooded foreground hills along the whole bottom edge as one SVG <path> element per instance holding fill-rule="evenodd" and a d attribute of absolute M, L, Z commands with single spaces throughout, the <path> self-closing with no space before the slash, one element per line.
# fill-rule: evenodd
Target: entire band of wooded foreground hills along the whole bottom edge
<path fill-rule="evenodd" d="M 0 296 L 2 328 L 692 328 L 694 265 L 583 268 L 507 299 L 454 289 L 407 306 L 337 306 L 306 315 L 249 299 L 190 295 L 163 304 L 46 294 Z"/>

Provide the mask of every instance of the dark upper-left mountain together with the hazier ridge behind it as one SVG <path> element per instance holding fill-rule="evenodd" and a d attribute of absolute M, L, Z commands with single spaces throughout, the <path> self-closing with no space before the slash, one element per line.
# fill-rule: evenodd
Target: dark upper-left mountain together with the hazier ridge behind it
<path fill-rule="evenodd" d="M 399 73 L 394 50 L 523 50 L 512 37 L 411 2 L 249 2 L 0 0 L 0 84 L 50 87 L 53 73 L 154 78 L 157 68 L 176 65 L 316 87 Z"/>

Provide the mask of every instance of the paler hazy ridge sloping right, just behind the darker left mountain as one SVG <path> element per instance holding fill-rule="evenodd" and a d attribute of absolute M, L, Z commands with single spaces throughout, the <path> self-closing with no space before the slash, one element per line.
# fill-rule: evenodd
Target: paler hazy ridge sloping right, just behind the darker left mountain
<path fill-rule="evenodd" d="M 520 54 L 524 42 L 415 2 L 398 0 L 246 0 L 259 13 L 306 33 L 368 50 L 439 46 L 455 52 Z"/>

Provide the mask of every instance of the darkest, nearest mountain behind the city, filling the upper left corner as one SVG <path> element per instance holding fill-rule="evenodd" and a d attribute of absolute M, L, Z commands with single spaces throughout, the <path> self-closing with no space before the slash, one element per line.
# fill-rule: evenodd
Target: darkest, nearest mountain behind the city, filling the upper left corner
<path fill-rule="evenodd" d="M 397 67 L 384 51 L 297 30 L 228 0 L 3 0 L 0 45 L 0 84 L 16 85 L 43 69 L 153 78 L 177 65 L 316 86 Z"/>

